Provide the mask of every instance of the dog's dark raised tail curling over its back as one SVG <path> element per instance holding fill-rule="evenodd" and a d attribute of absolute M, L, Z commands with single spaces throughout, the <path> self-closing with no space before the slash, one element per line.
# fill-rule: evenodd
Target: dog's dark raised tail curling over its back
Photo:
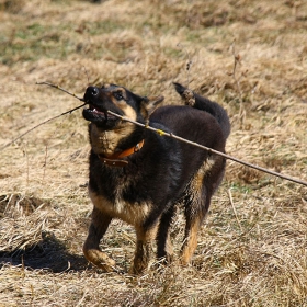
<path fill-rule="evenodd" d="M 177 92 L 184 100 L 186 105 L 203 110 L 212 114 L 219 123 L 225 138 L 230 134 L 230 122 L 227 112 L 216 102 L 209 101 L 208 99 L 201 96 L 193 91 L 184 88 L 179 83 L 173 83 Z"/>

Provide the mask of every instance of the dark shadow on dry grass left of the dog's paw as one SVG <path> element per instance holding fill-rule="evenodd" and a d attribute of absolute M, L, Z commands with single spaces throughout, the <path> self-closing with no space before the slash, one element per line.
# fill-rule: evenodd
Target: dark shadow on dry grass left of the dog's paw
<path fill-rule="evenodd" d="M 69 253 L 65 243 L 49 232 L 43 234 L 42 241 L 35 246 L 0 252 L 0 269 L 5 263 L 33 270 L 46 269 L 53 273 L 83 271 L 90 268 L 83 255 Z"/>

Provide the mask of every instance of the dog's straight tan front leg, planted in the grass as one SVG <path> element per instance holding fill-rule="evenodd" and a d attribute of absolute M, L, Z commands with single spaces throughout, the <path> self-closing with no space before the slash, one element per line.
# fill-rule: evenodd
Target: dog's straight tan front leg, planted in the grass
<path fill-rule="evenodd" d="M 149 260 L 152 253 L 152 241 L 156 238 L 157 226 L 152 226 L 149 229 L 144 227 L 136 227 L 136 251 L 134 263 L 130 269 L 132 274 L 140 274 L 147 269 Z"/>

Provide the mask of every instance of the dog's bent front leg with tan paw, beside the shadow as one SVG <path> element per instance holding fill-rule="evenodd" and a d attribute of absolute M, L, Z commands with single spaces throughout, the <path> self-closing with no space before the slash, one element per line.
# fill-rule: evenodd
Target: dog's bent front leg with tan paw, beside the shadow
<path fill-rule="evenodd" d="M 83 246 L 83 253 L 88 261 L 92 262 L 105 272 L 114 271 L 115 261 L 100 250 L 99 243 L 111 220 L 111 216 L 94 207 L 89 235 Z"/>

